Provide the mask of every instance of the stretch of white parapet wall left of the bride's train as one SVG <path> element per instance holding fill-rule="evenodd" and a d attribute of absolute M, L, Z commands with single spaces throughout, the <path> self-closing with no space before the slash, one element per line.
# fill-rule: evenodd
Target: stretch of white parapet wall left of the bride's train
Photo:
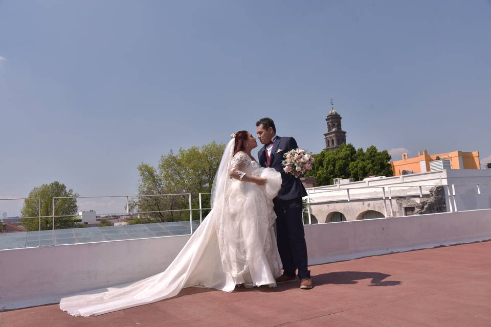
<path fill-rule="evenodd" d="M 0 251 L 0 310 L 137 281 L 172 262 L 189 235 Z"/>

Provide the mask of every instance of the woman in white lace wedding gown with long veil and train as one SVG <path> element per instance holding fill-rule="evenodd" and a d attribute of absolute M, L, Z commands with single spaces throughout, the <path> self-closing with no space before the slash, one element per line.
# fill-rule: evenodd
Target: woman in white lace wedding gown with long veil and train
<path fill-rule="evenodd" d="M 273 198 L 281 174 L 261 168 L 248 131 L 232 134 L 212 187 L 212 209 L 167 269 L 137 282 L 63 297 L 60 309 L 73 316 L 157 302 L 191 286 L 232 292 L 236 285 L 276 287 L 281 260 L 272 228 Z"/>

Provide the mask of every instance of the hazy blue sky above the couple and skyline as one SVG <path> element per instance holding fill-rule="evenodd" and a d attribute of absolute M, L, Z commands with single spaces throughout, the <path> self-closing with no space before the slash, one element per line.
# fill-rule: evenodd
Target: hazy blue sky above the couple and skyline
<path fill-rule="evenodd" d="M 330 98 L 355 147 L 489 157 L 490 31 L 489 0 L 0 1 L 0 197 L 136 194 L 262 116 L 318 152 Z"/>

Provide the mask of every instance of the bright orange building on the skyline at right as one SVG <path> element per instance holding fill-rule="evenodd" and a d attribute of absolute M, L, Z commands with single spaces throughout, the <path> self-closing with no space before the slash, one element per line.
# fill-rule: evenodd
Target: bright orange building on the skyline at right
<path fill-rule="evenodd" d="M 394 176 L 416 174 L 429 172 L 430 162 L 438 159 L 449 160 L 451 169 L 480 169 L 479 151 L 428 154 L 428 151 L 424 150 L 412 158 L 409 158 L 407 153 L 403 153 L 401 160 L 390 161 L 390 165 Z"/>

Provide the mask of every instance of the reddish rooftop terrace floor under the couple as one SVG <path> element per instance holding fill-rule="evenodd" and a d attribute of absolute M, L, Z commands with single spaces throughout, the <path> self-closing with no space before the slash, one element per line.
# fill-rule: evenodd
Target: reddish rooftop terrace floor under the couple
<path fill-rule="evenodd" d="M 297 283 L 233 293 L 188 288 L 175 298 L 97 317 L 57 304 L 0 312 L 17 326 L 490 326 L 491 242 L 312 266 Z"/>

